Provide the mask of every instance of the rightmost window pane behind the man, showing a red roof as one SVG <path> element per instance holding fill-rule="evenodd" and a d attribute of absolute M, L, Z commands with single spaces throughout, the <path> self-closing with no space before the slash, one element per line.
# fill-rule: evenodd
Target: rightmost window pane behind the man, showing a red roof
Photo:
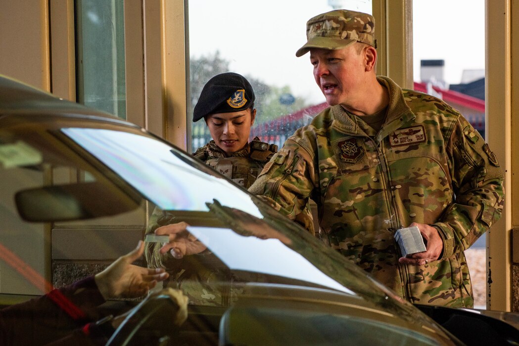
<path fill-rule="evenodd" d="M 460 39 L 438 18 L 463 23 L 470 34 Z M 485 137 L 485 0 L 414 1 L 413 65 L 415 89 L 458 109 Z M 485 241 L 486 234 L 465 252 L 479 309 L 486 306 Z"/>

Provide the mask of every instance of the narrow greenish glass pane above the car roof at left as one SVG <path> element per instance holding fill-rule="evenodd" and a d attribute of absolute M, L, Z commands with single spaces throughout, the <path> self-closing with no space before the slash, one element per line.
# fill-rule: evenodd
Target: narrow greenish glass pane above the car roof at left
<path fill-rule="evenodd" d="M 123 0 L 76 0 L 77 100 L 126 119 Z"/>

